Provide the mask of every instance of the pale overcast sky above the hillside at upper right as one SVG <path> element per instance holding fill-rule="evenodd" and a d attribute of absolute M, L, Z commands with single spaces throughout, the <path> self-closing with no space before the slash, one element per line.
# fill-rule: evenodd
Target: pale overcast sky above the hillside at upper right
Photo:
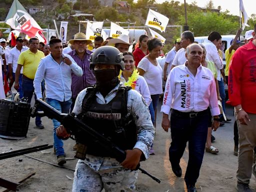
<path fill-rule="evenodd" d="M 165 0 L 155 0 L 157 3 L 164 2 Z M 175 0 L 176 1 L 176 0 Z M 184 0 L 177 0 L 184 2 Z M 194 0 L 186 0 L 186 3 L 190 4 Z M 209 0 L 195 0 L 198 6 L 204 7 Z M 239 0 L 212 0 L 215 7 L 221 6 L 221 10 L 229 10 L 233 15 L 239 15 Z M 252 13 L 256 14 L 255 8 L 256 0 L 243 0 L 243 6 L 247 15 L 250 17 Z"/>

